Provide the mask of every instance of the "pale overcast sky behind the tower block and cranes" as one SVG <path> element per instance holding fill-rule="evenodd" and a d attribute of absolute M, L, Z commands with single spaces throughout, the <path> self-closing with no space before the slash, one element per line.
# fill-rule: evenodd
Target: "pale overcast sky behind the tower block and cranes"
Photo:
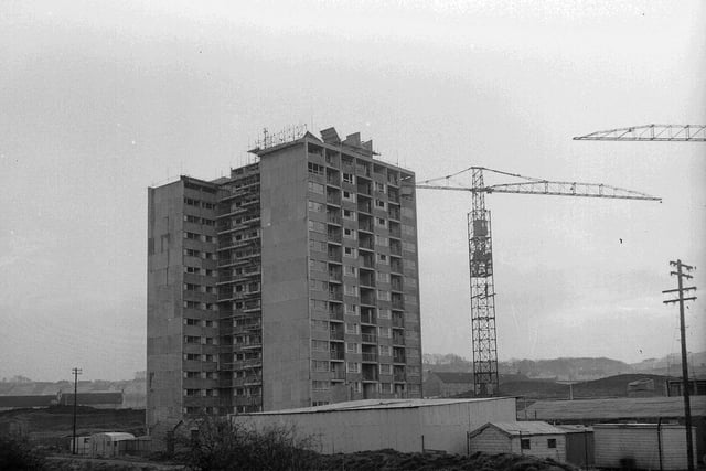
<path fill-rule="evenodd" d="M 145 370 L 147 188 L 227 174 L 292 124 L 361 131 L 418 180 L 483 165 L 662 196 L 488 196 L 498 351 L 677 352 L 661 291 L 670 260 L 706 269 L 706 143 L 571 137 L 706 124 L 704 77 L 702 1 L 2 1 L 0 377 Z M 470 358 L 470 195 L 417 204 L 424 351 Z"/>

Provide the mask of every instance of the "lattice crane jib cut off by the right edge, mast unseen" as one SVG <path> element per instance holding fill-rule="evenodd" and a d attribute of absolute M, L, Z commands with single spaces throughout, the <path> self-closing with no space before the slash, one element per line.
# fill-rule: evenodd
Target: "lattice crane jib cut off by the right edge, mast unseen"
<path fill-rule="evenodd" d="M 644 125 L 577 136 L 576 141 L 706 141 L 704 125 Z"/>

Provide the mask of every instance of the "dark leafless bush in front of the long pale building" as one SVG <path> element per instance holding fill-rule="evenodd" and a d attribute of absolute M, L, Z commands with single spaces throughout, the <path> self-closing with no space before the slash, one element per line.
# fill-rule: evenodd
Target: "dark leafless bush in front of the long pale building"
<path fill-rule="evenodd" d="M 309 470 L 318 453 L 311 438 L 298 438 L 295 428 L 249 430 L 225 418 L 204 418 L 178 460 L 204 471 Z"/>

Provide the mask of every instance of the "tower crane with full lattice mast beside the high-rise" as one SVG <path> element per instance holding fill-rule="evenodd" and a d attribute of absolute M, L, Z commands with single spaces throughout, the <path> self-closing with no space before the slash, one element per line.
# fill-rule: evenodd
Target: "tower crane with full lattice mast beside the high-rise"
<path fill-rule="evenodd" d="M 483 181 L 484 171 L 522 179 L 523 181 L 486 186 Z M 467 172 L 471 172 L 471 186 L 451 185 L 454 183 L 451 180 L 452 178 Z M 499 385 L 493 250 L 490 211 L 485 208 L 485 194 L 518 193 L 662 201 L 645 193 L 605 184 L 548 181 L 483 167 L 471 167 L 448 176 L 419 182 L 415 186 L 418 189 L 453 190 L 471 193 L 472 208 L 468 213 L 468 247 L 471 275 L 473 387 L 475 395 L 481 397 L 496 394 Z"/>

